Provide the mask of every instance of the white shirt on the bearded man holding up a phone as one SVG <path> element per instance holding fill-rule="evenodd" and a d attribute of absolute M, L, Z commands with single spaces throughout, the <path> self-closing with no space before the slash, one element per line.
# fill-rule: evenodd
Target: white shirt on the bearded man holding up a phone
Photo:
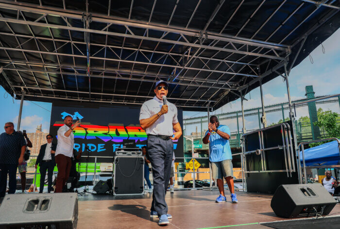
<path fill-rule="evenodd" d="M 60 126 L 58 129 L 58 144 L 57 149 L 55 150 L 55 156 L 58 154 L 63 154 L 69 158 L 73 157 L 73 144 L 74 144 L 74 135 L 73 131 L 71 134 L 66 137 L 65 133 L 69 130 L 69 127 L 64 124 Z"/>

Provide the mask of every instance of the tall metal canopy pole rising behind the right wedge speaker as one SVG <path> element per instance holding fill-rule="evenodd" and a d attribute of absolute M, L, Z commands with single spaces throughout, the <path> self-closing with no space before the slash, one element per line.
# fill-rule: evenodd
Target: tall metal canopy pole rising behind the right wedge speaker
<path fill-rule="evenodd" d="M 287 95 L 288 95 L 288 105 L 289 105 L 289 119 L 291 121 L 291 127 L 293 129 L 293 138 L 294 138 L 294 148 L 295 148 L 295 157 L 297 159 L 297 167 L 298 167 L 298 175 L 299 175 L 299 183 L 302 184 L 302 178 L 301 178 L 301 162 L 298 159 L 298 155 L 299 155 L 299 151 L 298 151 L 298 147 L 297 147 L 297 138 L 296 138 L 296 128 L 295 128 L 295 117 L 294 117 L 294 113 L 293 113 L 293 107 L 291 104 L 291 99 L 290 99 L 290 91 L 289 91 L 289 82 L 288 82 L 288 71 L 287 71 L 287 63 L 285 63 L 284 65 L 285 67 L 285 79 L 286 79 L 286 86 L 287 86 Z"/>

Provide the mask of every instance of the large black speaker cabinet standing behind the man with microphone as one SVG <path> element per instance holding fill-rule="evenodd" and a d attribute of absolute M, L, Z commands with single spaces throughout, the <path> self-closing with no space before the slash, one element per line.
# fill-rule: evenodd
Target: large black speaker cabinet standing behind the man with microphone
<path fill-rule="evenodd" d="M 143 156 L 116 156 L 114 166 L 114 195 L 140 195 L 144 193 Z"/>

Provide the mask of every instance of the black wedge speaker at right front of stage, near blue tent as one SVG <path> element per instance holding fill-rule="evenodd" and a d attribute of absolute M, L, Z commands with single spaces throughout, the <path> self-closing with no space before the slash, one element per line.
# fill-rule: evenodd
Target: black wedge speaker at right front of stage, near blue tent
<path fill-rule="evenodd" d="M 337 201 L 320 184 L 287 184 L 277 188 L 271 207 L 276 215 L 285 218 L 296 216 L 327 215 Z"/>

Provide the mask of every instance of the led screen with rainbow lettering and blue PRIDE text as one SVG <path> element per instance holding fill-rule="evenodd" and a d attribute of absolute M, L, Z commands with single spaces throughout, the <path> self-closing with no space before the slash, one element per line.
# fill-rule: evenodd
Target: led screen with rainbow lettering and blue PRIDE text
<path fill-rule="evenodd" d="M 83 150 L 82 161 L 89 156 L 89 162 L 112 162 L 117 148 L 141 148 L 146 145 L 147 135 L 139 125 L 138 106 L 114 106 L 94 103 L 53 102 L 50 133 L 57 143 L 57 131 L 64 125 L 67 115 L 81 120 L 74 129 L 74 146 Z M 183 127 L 183 111 L 178 109 L 178 121 Z M 89 149 L 89 151 L 86 150 Z M 173 141 L 176 158 L 183 157 L 183 137 Z M 183 160 L 183 159 L 182 159 Z M 180 159 L 176 159 L 176 162 Z"/>

